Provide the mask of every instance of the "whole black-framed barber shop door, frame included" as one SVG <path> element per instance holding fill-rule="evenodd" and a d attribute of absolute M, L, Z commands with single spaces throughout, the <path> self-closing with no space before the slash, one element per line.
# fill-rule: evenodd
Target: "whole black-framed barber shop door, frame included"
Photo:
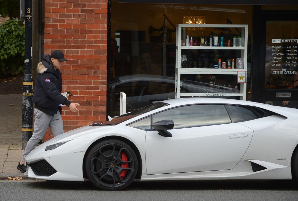
<path fill-rule="evenodd" d="M 260 62 L 252 84 L 255 102 L 298 108 L 298 17 L 291 11 L 261 11 L 259 36 Z M 256 21 L 255 21 L 256 22 Z M 255 23 L 254 22 L 254 23 Z M 258 48 L 254 46 L 253 48 Z M 259 57 L 259 58 L 258 58 Z"/>

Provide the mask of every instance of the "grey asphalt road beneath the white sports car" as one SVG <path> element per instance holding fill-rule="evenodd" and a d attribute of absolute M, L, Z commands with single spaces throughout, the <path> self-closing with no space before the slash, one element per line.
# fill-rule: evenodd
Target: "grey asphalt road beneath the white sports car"
<path fill-rule="evenodd" d="M 291 181 L 195 181 L 133 182 L 122 191 L 97 190 L 90 182 L 52 183 L 44 180 L 0 181 L 0 200 L 298 200 L 298 188 Z"/>

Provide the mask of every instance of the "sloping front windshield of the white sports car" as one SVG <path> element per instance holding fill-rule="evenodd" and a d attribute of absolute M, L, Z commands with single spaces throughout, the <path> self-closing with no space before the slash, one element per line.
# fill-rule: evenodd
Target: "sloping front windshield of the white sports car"
<path fill-rule="evenodd" d="M 154 103 L 154 104 L 151 104 L 151 105 L 147 105 L 145 107 L 142 107 L 140 109 L 134 110 L 134 111 L 129 112 L 129 113 L 126 113 L 124 115 L 114 117 L 111 120 L 100 124 L 99 126 L 117 125 L 117 124 L 120 124 L 120 123 L 122 123 L 126 120 L 129 120 L 129 119 L 133 118 L 133 117 L 139 116 L 139 115 L 144 114 L 146 112 L 150 112 L 150 111 L 155 110 L 155 109 L 160 108 L 160 107 L 164 107 L 166 105 L 169 105 L 169 104 L 168 103 L 163 103 L 163 102 L 158 102 L 158 103 Z"/>

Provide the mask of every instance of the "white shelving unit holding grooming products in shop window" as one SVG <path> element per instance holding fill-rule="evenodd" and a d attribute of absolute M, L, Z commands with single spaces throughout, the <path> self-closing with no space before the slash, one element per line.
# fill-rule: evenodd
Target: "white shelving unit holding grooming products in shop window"
<path fill-rule="evenodd" d="M 241 36 L 242 36 L 242 47 L 214 47 L 214 46 L 181 46 L 181 33 L 182 33 L 182 28 L 236 28 L 241 31 Z M 214 92 L 214 90 L 208 91 L 206 90 L 206 93 L 181 93 L 180 92 L 180 85 L 181 85 L 181 75 L 185 74 L 195 74 L 195 75 L 236 75 L 236 82 L 237 82 L 237 72 L 238 71 L 247 71 L 247 36 L 248 36 L 248 25 L 195 25 L 195 24 L 178 24 L 177 25 L 177 34 L 176 34 L 176 69 L 175 69 L 175 78 L 176 78 L 176 93 L 175 93 L 175 98 L 180 98 L 181 96 L 200 96 L 200 97 L 218 97 L 222 98 L 223 96 L 226 97 L 240 97 L 239 99 L 241 100 L 246 100 L 246 82 L 238 84 L 240 85 L 240 93 L 229 93 L 229 90 L 227 90 L 227 93 L 218 93 Z M 220 30 L 218 31 L 220 33 Z M 189 35 L 189 39 L 191 37 L 191 33 L 186 31 L 186 35 Z M 219 35 L 219 34 L 218 34 Z M 194 37 L 193 37 L 194 38 Z M 208 41 L 209 41 L 209 35 L 207 35 Z M 220 37 L 219 37 L 220 38 Z M 218 38 L 218 41 L 220 39 Z M 231 39 L 231 45 L 233 41 L 233 37 Z M 225 41 L 227 40 L 224 39 Z M 200 45 L 200 44 L 199 44 Z M 236 68 L 236 58 L 234 55 L 231 55 L 231 58 L 235 59 L 235 68 L 234 69 L 222 69 L 222 68 L 181 68 L 181 60 L 180 56 L 182 55 L 182 51 L 187 51 L 187 50 L 211 50 L 214 51 L 213 57 L 216 57 L 216 53 L 218 51 L 229 51 L 229 50 L 234 50 L 237 51 L 238 55 L 241 55 L 241 58 L 243 59 L 243 68 L 237 69 Z M 216 51 L 218 50 L 218 51 Z M 239 52 L 238 52 L 239 51 Z M 211 57 L 211 56 L 210 56 Z M 216 64 L 216 61 L 214 61 L 214 64 Z M 215 83 L 216 85 L 216 83 Z M 214 86 L 214 85 L 213 85 Z M 217 96 L 218 95 L 218 96 Z"/>

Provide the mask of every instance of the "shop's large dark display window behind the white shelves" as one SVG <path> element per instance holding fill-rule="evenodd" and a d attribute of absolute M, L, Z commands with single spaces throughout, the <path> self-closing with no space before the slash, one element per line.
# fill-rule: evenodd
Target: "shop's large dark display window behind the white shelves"
<path fill-rule="evenodd" d="M 127 112 L 154 101 L 174 98 L 176 25 L 189 23 L 188 19 L 196 19 L 202 24 L 248 25 L 247 76 L 249 76 L 252 6 L 112 2 L 111 8 L 111 107 L 110 111 L 107 111 L 109 116 L 120 114 L 121 91 L 127 96 Z M 209 37 L 210 34 L 224 34 L 225 39 L 230 37 L 233 39 L 233 35 L 239 34 L 239 30 L 237 28 L 196 29 L 191 30 L 190 33 L 197 38 Z M 201 57 L 198 68 L 208 65 L 203 58 L 206 54 L 208 53 L 196 53 L 196 56 Z M 216 76 L 203 77 L 198 74 L 187 76 L 184 80 L 188 85 L 202 80 L 208 84 L 212 78 Z M 228 86 L 233 90 L 238 88 L 235 80 L 229 80 L 220 75 L 216 79 L 218 79 L 218 85 L 227 85 L 227 89 Z M 190 89 L 186 87 L 182 90 Z M 249 87 L 247 91 L 250 91 Z"/>

